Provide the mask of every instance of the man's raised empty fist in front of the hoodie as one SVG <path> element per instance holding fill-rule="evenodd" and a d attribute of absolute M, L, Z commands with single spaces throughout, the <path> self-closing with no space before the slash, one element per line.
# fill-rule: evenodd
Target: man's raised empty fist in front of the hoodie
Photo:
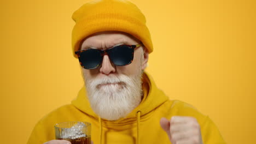
<path fill-rule="evenodd" d="M 202 144 L 200 125 L 193 117 L 173 116 L 170 121 L 161 118 L 160 125 L 172 144 Z"/>

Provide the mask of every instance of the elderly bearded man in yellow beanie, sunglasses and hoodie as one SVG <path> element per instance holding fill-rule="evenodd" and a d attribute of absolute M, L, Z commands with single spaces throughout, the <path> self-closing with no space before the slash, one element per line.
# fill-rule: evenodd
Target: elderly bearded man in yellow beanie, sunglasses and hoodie
<path fill-rule="evenodd" d="M 72 16 L 72 49 L 85 86 L 77 99 L 49 113 L 28 143 L 54 140 L 53 126 L 68 121 L 92 125 L 94 143 L 225 143 L 208 116 L 169 100 L 144 71 L 153 51 L 146 19 L 128 1 L 84 4 Z"/>

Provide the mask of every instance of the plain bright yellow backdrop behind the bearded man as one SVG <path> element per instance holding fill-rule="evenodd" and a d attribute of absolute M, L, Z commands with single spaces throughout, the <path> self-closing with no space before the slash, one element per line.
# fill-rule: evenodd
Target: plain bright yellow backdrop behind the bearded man
<path fill-rule="evenodd" d="M 83 86 L 71 16 L 84 2 L 1 1 L 0 143 L 26 143 Z M 209 115 L 226 142 L 255 143 L 255 2 L 133 2 L 152 34 L 147 70 L 158 87 Z"/>

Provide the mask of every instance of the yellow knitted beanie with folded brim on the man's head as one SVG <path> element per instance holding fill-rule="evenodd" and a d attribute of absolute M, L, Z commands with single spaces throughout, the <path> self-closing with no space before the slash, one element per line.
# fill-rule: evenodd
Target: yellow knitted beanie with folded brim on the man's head
<path fill-rule="evenodd" d="M 125 0 L 96 0 L 82 5 L 72 19 L 75 26 L 72 31 L 72 50 L 79 50 L 80 42 L 91 34 L 102 31 L 120 31 L 141 40 L 148 52 L 153 44 L 146 18 L 137 6 Z"/>

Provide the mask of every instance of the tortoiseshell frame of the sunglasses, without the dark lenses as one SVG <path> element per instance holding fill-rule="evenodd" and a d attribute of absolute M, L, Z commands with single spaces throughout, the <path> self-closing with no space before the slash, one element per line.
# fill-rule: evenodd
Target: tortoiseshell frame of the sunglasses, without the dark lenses
<path fill-rule="evenodd" d="M 132 63 L 132 61 L 133 61 L 133 56 L 134 56 L 134 49 L 136 49 L 137 47 L 140 47 L 140 46 L 143 46 L 143 44 L 142 43 L 139 43 L 139 44 L 137 44 L 137 45 L 126 45 L 126 44 L 124 44 L 124 45 L 118 45 L 118 46 L 127 46 L 127 47 L 129 47 L 130 49 L 132 49 L 132 58 L 131 58 L 131 61 L 128 63 L 128 64 L 130 64 L 130 63 Z M 100 66 L 101 64 L 102 64 L 102 61 L 103 61 L 103 56 L 104 55 L 108 55 L 108 51 L 109 50 L 112 50 L 112 49 L 114 49 L 115 47 L 118 47 L 118 46 L 113 46 L 113 47 L 110 47 L 109 49 L 106 49 L 106 50 L 98 50 L 98 49 L 85 49 L 85 50 L 80 50 L 80 51 L 75 51 L 75 55 L 77 55 L 78 56 L 78 59 L 79 59 L 79 63 L 80 63 L 80 65 L 84 68 L 84 69 L 96 69 L 96 68 L 98 68 L 98 66 Z M 94 67 L 94 68 L 85 68 L 84 67 L 84 65 L 82 64 L 82 62 L 80 61 L 80 53 L 82 53 L 82 52 L 84 52 L 84 51 L 88 51 L 88 50 L 97 50 L 97 51 L 99 51 L 100 53 L 101 53 L 101 62 L 96 66 L 96 67 Z M 112 59 L 109 57 L 109 59 L 110 59 L 110 62 L 112 62 Z M 113 63 L 113 62 L 112 62 Z M 113 63 L 114 64 L 114 63 Z M 125 65 L 128 65 L 128 64 L 125 64 Z M 114 64 L 114 65 L 116 65 L 116 64 Z M 125 65 L 118 65 L 118 66 L 125 66 Z"/>

